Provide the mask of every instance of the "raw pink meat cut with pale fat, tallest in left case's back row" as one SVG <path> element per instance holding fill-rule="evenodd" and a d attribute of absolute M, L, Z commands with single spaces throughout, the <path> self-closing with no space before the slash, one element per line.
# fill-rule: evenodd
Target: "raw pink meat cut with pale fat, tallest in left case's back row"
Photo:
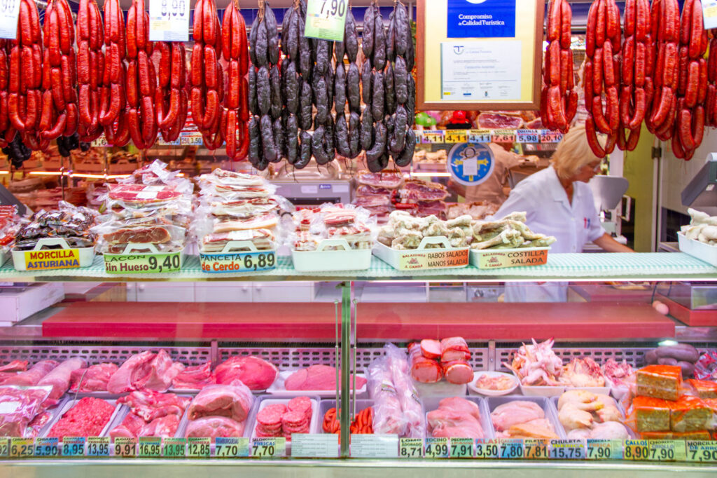
<path fill-rule="evenodd" d="M 110 393 L 125 393 L 148 388 L 164 392 L 183 369 L 181 363 L 172 362 L 166 350 L 157 353 L 146 350 L 125 360 L 110 378 L 107 390 Z"/>

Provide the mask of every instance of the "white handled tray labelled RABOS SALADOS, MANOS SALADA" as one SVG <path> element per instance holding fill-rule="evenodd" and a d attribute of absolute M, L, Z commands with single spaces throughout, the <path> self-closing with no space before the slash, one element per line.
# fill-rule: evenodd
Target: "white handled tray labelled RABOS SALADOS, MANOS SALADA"
<path fill-rule="evenodd" d="M 426 248 L 427 244 L 440 244 L 442 248 Z M 462 268 L 468 265 L 468 252 L 470 248 L 452 248 L 448 238 L 445 236 L 433 236 L 423 238 L 416 249 L 393 249 L 387 245 L 376 243 L 374 245 L 374 256 L 381 259 L 394 269 L 399 271 L 427 271 L 429 269 Z M 443 256 L 431 257 L 429 254 Z M 446 265 L 446 256 L 452 256 L 455 265 Z M 440 263 L 440 265 L 439 265 Z"/>

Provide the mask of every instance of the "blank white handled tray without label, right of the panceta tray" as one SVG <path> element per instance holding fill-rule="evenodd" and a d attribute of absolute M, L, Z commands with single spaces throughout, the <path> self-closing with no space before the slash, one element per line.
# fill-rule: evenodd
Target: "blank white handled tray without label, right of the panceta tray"
<path fill-rule="evenodd" d="M 324 250 L 338 246 L 343 250 Z M 365 271 L 371 267 L 371 249 L 351 249 L 346 239 L 324 239 L 316 250 L 291 250 L 294 268 L 300 272 Z"/>

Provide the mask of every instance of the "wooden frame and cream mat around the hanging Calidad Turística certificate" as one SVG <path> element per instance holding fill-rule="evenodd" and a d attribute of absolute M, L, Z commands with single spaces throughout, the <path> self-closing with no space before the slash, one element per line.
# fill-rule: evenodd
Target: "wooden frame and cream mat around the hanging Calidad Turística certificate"
<path fill-rule="evenodd" d="M 447 0 L 418 0 L 416 23 L 416 103 L 418 109 L 467 111 L 531 111 L 540 109 L 543 22 L 546 2 L 545 0 L 505 1 L 516 2 L 516 22 L 527 22 L 527 24 L 516 24 L 516 37 L 455 39 L 447 37 Z M 445 14 L 437 19 L 436 9 L 440 9 L 443 6 L 445 6 L 443 8 Z M 532 20 L 526 20 L 526 17 L 531 17 Z M 531 31 L 526 31 L 526 27 L 530 27 Z M 447 100 L 442 98 L 442 60 L 440 55 L 442 42 L 460 40 L 460 42 L 465 43 L 480 43 L 494 42 L 496 40 L 514 40 L 517 37 L 520 37 L 522 42 L 526 42 L 526 45 L 522 47 L 521 98 L 519 100 Z M 427 44 L 427 42 L 429 43 Z M 525 65 L 528 65 L 528 67 L 525 67 Z"/>

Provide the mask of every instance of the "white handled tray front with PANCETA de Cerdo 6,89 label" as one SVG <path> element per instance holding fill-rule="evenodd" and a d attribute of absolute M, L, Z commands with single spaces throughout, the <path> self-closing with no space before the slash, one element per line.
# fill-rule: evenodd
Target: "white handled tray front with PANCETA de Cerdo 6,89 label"
<path fill-rule="evenodd" d="M 258 250 L 250 240 L 230 240 L 221 253 L 199 253 L 201 271 L 247 273 L 276 268 L 276 250 Z"/>

